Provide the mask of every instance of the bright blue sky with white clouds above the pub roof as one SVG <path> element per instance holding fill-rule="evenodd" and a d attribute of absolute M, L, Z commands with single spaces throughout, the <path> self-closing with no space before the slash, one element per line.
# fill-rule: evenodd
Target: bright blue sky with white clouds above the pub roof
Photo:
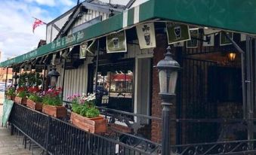
<path fill-rule="evenodd" d="M 1 61 L 33 50 L 40 39 L 45 39 L 46 25 L 33 33 L 32 17 L 49 23 L 76 3 L 77 0 L 0 0 Z"/>

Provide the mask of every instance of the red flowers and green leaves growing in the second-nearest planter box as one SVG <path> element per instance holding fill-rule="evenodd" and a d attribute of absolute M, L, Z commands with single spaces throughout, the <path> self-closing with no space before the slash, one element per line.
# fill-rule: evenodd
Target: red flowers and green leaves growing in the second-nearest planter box
<path fill-rule="evenodd" d="M 61 88 L 57 88 L 56 90 L 49 89 L 47 92 L 45 92 L 42 103 L 44 105 L 61 106 L 63 103 L 60 99 L 60 91 Z"/>

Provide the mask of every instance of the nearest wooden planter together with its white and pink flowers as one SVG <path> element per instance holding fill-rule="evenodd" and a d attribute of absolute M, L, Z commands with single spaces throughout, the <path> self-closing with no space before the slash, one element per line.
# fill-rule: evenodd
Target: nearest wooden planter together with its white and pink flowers
<path fill-rule="evenodd" d="M 106 119 L 100 115 L 100 111 L 95 108 L 95 94 L 88 94 L 88 97 L 73 95 L 68 99 L 72 104 L 71 123 L 75 126 L 91 133 L 106 132 Z"/>

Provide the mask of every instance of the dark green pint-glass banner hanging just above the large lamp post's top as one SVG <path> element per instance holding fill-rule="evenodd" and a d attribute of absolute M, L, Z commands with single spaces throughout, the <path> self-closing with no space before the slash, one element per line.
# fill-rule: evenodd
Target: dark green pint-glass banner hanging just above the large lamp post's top
<path fill-rule="evenodd" d="M 184 24 L 166 23 L 168 44 L 190 40 L 189 26 Z"/>

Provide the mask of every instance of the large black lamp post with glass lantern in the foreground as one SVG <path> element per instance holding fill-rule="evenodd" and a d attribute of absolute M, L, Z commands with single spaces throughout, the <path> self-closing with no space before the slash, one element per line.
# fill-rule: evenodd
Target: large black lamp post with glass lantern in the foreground
<path fill-rule="evenodd" d="M 180 65 L 172 59 L 171 47 L 168 46 L 165 59 L 158 62 L 156 68 L 159 69 L 159 85 L 162 99 L 162 155 L 169 155 L 170 150 L 170 119 L 171 119 L 171 99 L 175 96 L 177 83 L 177 71 Z"/>

